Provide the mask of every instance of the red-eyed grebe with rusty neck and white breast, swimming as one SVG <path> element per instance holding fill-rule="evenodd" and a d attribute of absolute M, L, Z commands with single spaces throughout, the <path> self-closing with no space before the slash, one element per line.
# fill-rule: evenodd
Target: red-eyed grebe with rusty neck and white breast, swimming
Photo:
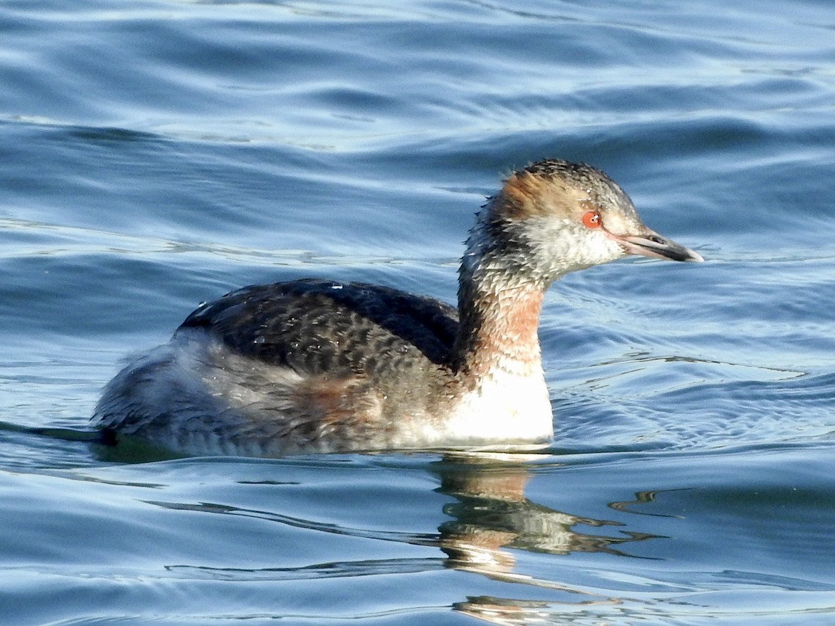
<path fill-rule="evenodd" d="M 510 175 L 470 230 L 458 309 L 378 285 L 244 287 L 191 313 L 104 389 L 95 427 L 191 454 L 525 450 L 554 436 L 539 354 L 544 291 L 645 255 L 701 261 L 643 225 L 587 164 Z"/>

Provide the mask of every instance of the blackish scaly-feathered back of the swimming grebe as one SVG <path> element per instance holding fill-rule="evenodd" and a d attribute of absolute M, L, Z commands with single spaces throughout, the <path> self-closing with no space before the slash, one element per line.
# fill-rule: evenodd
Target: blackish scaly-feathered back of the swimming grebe
<path fill-rule="evenodd" d="M 371 373 L 382 365 L 372 361 L 398 356 L 447 364 L 458 310 L 380 285 L 307 279 L 232 291 L 195 310 L 178 330 L 196 328 L 243 356 L 339 376 Z"/>

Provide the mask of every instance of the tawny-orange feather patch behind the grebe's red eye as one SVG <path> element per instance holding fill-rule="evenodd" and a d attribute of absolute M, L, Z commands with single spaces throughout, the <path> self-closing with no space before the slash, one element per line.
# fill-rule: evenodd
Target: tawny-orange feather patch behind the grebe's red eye
<path fill-rule="evenodd" d="M 510 220 L 524 220 L 534 215 L 550 215 L 554 210 L 573 213 L 574 208 L 588 204 L 589 195 L 583 189 L 559 178 L 520 171 L 504 181 L 501 194 L 504 203 L 501 215 Z"/>

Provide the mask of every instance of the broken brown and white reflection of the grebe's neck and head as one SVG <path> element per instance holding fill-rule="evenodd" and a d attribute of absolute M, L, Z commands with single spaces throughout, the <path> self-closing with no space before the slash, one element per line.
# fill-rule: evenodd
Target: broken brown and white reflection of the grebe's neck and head
<path fill-rule="evenodd" d="M 460 613 L 491 623 L 541 623 L 544 615 L 554 617 L 554 602 L 562 606 L 620 603 L 618 598 L 515 573 L 513 551 L 627 556 L 617 547 L 657 537 L 623 531 L 617 537 L 582 533 L 576 527 L 622 527 L 623 524 L 580 517 L 531 502 L 524 495 L 530 478 L 525 461 L 533 458 L 518 454 L 456 455 L 444 457 L 434 467 L 441 478 L 438 491 L 455 499 L 443 507 L 451 519 L 438 528 L 438 546 L 448 556 L 447 567 L 560 592 L 559 598 L 552 601 L 471 597 L 454 605 L 453 609 Z"/>

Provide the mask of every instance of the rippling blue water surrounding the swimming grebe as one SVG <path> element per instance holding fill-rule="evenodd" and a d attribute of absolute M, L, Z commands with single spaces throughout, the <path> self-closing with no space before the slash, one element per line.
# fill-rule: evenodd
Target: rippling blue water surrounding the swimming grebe
<path fill-rule="evenodd" d="M 588 4 L 0 4 L 0 622 L 835 623 L 835 13 Z M 707 260 L 549 291 L 547 453 L 49 436 L 237 286 L 453 300 L 544 157 Z"/>

